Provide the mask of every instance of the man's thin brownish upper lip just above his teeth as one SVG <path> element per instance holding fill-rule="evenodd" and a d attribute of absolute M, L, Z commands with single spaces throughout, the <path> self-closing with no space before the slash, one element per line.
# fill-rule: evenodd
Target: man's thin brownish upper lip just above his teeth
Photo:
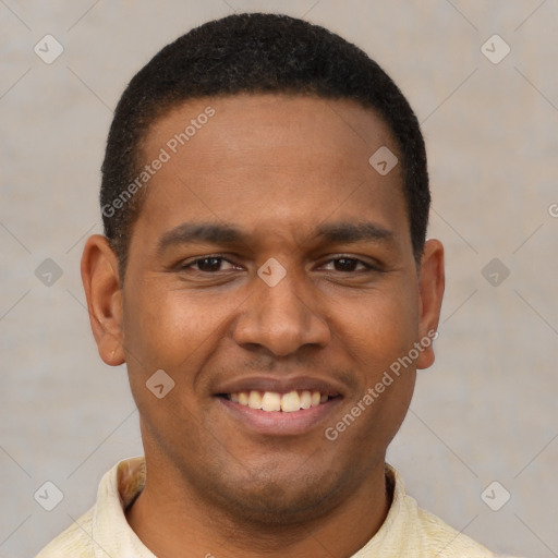
<path fill-rule="evenodd" d="M 275 391 L 288 393 L 289 391 L 319 391 L 323 396 L 336 397 L 342 395 L 342 388 L 335 381 L 328 381 L 310 376 L 248 376 L 226 381 L 218 386 L 215 395 L 238 393 L 240 391 Z"/>

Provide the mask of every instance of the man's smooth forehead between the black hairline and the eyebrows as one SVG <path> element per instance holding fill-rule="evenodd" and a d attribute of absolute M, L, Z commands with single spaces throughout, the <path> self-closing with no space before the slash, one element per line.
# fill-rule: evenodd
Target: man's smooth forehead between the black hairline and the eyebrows
<path fill-rule="evenodd" d="M 277 229 L 375 213 L 404 228 L 401 166 L 381 175 L 368 161 L 380 148 L 397 156 L 391 131 L 351 100 L 275 94 L 192 99 L 146 135 L 145 163 L 165 162 L 149 179 L 138 220 Z"/>

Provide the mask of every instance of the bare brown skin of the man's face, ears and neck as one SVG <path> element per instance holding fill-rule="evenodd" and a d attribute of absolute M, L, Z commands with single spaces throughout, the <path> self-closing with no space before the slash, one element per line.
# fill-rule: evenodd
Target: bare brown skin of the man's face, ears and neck
<path fill-rule="evenodd" d="M 217 558 L 349 557 L 389 510 L 386 449 L 416 368 L 434 362 L 432 345 L 335 441 L 324 432 L 437 328 L 444 250 L 428 240 L 417 268 L 401 166 L 381 177 L 368 163 L 383 145 L 397 154 L 397 144 L 350 100 L 189 100 L 151 126 L 145 161 L 208 105 L 216 114 L 149 181 L 124 284 L 104 236 L 88 239 L 82 259 L 99 354 L 126 363 L 140 410 L 148 474 L 126 518 L 161 558 L 184 548 Z M 231 223 L 246 238 L 157 251 L 168 231 L 194 221 Z M 338 221 L 372 221 L 390 236 L 314 235 Z M 216 255 L 225 259 L 180 268 Z M 257 275 L 270 257 L 287 271 L 275 287 Z M 175 383 L 162 399 L 145 386 L 157 369 Z M 223 381 L 256 375 L 318 378 L 341 397 L 302 433 L 262 434 L 215 395 Z"/>

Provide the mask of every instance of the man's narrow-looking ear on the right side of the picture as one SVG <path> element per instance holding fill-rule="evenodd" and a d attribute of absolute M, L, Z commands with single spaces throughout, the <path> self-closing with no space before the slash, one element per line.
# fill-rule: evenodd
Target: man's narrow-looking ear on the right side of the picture
<path fill-rule="evenodd" d="M 441 300 L 446 277 L 444 272 L 444 246 L 440 241 L 432 239 L 424 245 L 418 276 L 420 296 L 420 339 L 424 340 L 416 360 L 417 368 L 428 368 L 434 364 L 433 341 L 437 333 L 440 318 Z"/>

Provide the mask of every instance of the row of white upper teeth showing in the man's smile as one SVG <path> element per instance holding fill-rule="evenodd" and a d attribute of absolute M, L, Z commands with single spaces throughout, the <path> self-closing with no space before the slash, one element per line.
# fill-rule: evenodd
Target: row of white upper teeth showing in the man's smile
<path fill-rule="evenodd" d="M 272 412 L 282 411 L 283 413 L 293 413 L 301 409 L 318 407 L 328 400 L 328 396 L 319 391 L 289 391 L 289 393 L 278 393 L 276 391 L 239 391 L 230 393 L 230 400 L 251 409 L 260 409 L 262 411 Z"/>

